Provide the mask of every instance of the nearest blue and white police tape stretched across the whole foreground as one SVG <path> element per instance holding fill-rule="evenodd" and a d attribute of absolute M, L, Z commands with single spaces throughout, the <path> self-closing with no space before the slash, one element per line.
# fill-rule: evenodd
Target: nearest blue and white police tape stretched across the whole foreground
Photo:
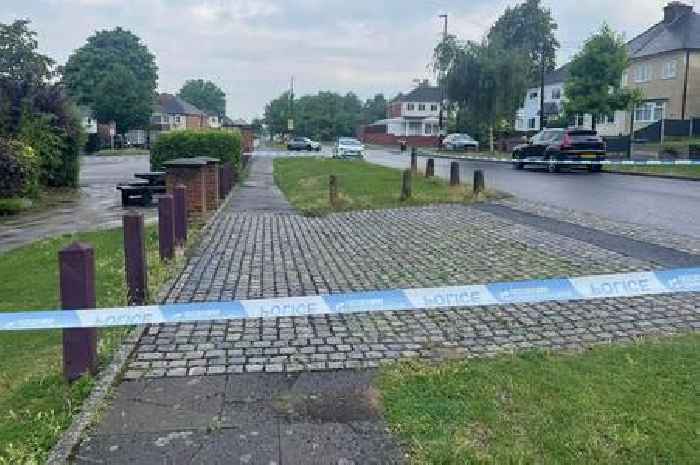
<path fill-rule="evenodd" d="M 276 318 L 700 291 L 700 268 L 309 297 L 0 313 L 0 331 Z"/>

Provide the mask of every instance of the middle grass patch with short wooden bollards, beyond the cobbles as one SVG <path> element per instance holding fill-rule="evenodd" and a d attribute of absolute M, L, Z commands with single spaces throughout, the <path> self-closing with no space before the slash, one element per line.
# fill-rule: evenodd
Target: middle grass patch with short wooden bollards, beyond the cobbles
<path fill-rule="evenodd" d="M 339 203 L 328 198 L 328 177 L 338 177 Z M 318 216 L 333 211 L 396 208 L 408 205 L 471 202 L 471 186 L 450 187 L 440 178 L 413 176 L 413 196 L 400 200 L 401 170 L 357 160 L 321 157 L 276 158 L 275 182 L 302 214 Z"/>

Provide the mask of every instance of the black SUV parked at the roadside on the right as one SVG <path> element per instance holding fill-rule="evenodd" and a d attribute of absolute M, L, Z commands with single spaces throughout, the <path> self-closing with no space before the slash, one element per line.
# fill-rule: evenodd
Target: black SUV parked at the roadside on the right
<path fill-rule="evenodd" d="M 527 144 L 513 149 L 513 167 L 523 169 L 528 161 L 549 161 L 547 169 L 555 173 L 561 168 L 557 161 L 603 161 L 605 142 L 590 129 L 543 129 Z M 566 166 L 577 166 L 575 163 Z M 581 166 L 581 165 L 579 165 Z M 600 171 L 601 165 L 586 165 L 590 171 Z"/>

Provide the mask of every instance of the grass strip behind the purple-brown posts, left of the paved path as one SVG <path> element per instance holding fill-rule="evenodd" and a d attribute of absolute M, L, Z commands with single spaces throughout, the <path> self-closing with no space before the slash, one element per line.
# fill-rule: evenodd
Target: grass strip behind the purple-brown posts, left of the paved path
<path fill-rule="evenodd" d="M 195 228 L 196 230 L 196 228 Z M 126 303 L 122 230 L 80 233 L 35 242 L 0 255 L 0 311 L 59 308 L 58 250 L 74 240 L 95 248 L 97 306 Z M 194 234 L 196 236 L 196 233 Z M 172 272 L 158 258 L 157 229 L 147 227 L 149 287 Z M 128 328 L 100 330 L 105 363 Z M 92 381 L 62 380 L 61 331 L 0 332 L 0 464 L 43 463 L 70 424 Z"/>

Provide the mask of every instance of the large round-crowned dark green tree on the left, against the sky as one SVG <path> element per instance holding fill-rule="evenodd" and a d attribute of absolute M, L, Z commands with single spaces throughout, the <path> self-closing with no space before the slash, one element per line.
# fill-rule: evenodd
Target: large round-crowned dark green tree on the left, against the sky
<path fill-rule="evenodd" d="M 127 70 L 128 72 L 126 72 Z M 115 89 L 120 77 L 128 77 L 131 87 L 122 85 Z M 132 79 L 133 77 L 133 79 Z M 107 80 L 107 83 L 103 81 Z M 114 30 L 98 31 L 89 37 L 87 44 L 76 50 L 66 63 L 63 82 L 69 94 L 81 105 L 95 107 L 98 102 L 102 114 L 121 115 L 115 120 L 121 131 L 142 128 L 151 115 L 151 104 L 156 90 L 158 68 L 155 57 L 131 32 L 117 27 Z M 126 92 L 128 98 L 101 96 L 105 90 Z M 101 99 L 101 100 L 100 100 Z M 107 108 L 107 103 L 129 106 Z M 130 114 L 126 117 L 125 115 Z M 109 121 L 104 120 L 102 121 Z M 139 123 L 139 125 L 134 125 Z"/>

